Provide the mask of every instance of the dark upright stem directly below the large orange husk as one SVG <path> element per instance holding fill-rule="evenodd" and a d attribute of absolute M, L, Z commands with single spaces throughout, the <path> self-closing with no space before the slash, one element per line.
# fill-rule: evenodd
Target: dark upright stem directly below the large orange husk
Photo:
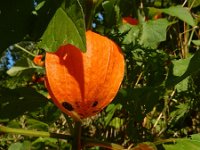
<path fill-rule="evenodd" d="M 74 139 L 72 143 L 73 150 L 81 150 L 82 144 L 81 144 L 81 122 L 76 121 L 75 127 L 74 127 Z"/>

